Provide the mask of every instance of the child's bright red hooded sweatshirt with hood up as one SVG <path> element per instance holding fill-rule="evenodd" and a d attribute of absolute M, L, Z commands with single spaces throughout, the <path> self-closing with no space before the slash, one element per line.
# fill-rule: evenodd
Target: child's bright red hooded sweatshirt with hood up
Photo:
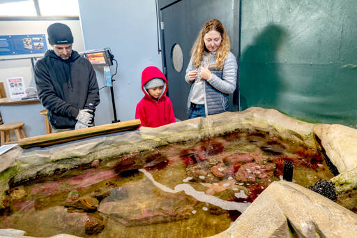
<path fill-rule="evenodd" d="M 146 82 L 154 78 L 160 78 L 165 82 L 164 89 L 158 101 L 155 101 L 144 87 Z M 159 127 L 175 122 L 172 103 L 170 98 L 165 96 L 168 86 L 169 84 L 167 83 L 165 75 L 155 66 L 146 67 L 142 71 L 142 91 L 144 91 L 145 96 L 137 103 L 137 110 L 135 112 L 135 119 L 140 119 L 142 122 L 140 126 Z"/>

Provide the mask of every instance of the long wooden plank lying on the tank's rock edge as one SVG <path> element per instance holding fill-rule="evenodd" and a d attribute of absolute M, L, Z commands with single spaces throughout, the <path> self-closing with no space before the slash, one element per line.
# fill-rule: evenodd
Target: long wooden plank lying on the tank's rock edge
<path fill-rule="evenodd" d="M 140 125 L 139 119 L 122 121 L 113 124 L 83 128 L 79 130 L 63 131 L 59 133 L 27 137 L 20 140 L 19 145 L 22 148 L 43 147 L 52 144 L 59 144 L 63 142 L 79 140 L 86 137 L 93 137 L 96 135 L 105 135 L 105 134 L 116 133 L 121 131 L 134 131 L 138 128 L 139 125 Z"/>

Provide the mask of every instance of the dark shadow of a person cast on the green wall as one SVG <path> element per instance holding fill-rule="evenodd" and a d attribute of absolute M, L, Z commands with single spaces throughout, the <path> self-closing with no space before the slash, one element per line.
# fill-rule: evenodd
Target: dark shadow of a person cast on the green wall
<path fill-rule="evenodd" d="M 248 107 L 279 110 L 278 94 L 285 87 L 277 53 L 285 38 L 286 30 L 269 24 L 241 53 L 241 110 Z"/>

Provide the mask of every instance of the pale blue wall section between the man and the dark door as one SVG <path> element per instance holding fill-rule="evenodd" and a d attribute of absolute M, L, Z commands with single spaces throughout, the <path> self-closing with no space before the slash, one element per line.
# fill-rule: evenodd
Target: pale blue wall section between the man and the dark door
<path fill-rule="evenodd" d="M 110 47 L 119 63 L 113 88 L 118 119 L 135 119 L 135 107 L 144 96 L 142 70 L 147 66 L 162 69 L 155 0 L 79 0 L 79 11 L 86 50 Z M 95 69 L 99 87 L 102 87 L 102 68 Z M 111 70 L 114 73 L 115 67 Z M 96 125 L 109 124 L 113 119 L 112 99 L 107 87 L 100 90 Z"/>

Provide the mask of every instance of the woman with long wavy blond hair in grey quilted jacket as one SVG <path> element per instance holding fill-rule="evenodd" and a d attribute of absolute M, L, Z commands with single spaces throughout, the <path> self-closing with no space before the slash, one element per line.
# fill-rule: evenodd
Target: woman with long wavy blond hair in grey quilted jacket
<path fill-rule="evenodd" d="M 185 80 L 192 84 L 188 96 L 189 118 L 227 112 L 228 98 L 236 89 L 237 61 L 229 36 L 217 19 L 204 24 L 192 47 Z"/>

